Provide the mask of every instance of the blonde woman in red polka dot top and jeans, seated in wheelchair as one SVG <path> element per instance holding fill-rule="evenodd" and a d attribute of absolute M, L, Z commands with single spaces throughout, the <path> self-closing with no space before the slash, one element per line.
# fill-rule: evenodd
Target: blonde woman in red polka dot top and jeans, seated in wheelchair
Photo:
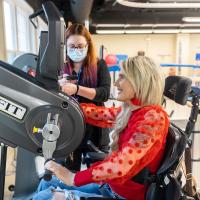
<path fill-rule="evenodd" d="M 119 109 L 82 104 L 86 121 L 114 126 L 111 153 L 89 169 L 70 172 L 54 161 L 45 167 L 57 178 L 41 181 L 34 199 L 111 197 L 144 200 L 146 185 L 134 180 L 144 168 L 155 173 L 163 157 L 169 120 L 161 107 L 163 79 L 160 69 L 145 56 L 129 58 L 115 83 Z M 60 180 L 60 181 L 59 181 Z M 59 191 L 58 191 L 59 190 Z"/>

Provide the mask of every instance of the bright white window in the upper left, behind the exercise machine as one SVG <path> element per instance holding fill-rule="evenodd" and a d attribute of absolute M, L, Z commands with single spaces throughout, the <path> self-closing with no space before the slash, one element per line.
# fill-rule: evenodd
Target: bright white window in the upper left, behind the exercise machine
<path fill-rule="evenodd" d="M 4 0 L 3 6 L 7 61 L 12 63 L 23 53 L 37 54 L 39 34 L 29 21 L 33 9 L 24 0 Z M 42 27 L 46 25 L 42 19 L 39 21 Z"/>

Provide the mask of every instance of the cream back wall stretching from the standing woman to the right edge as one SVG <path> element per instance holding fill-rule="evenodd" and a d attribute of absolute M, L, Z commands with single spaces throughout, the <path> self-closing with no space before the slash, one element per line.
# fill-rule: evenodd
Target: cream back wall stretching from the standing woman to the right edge
<path fill-rule="evenodd" d="M 134 34 L 134 35 L 93 35 L 93 40 L 99 54 L 100 46 L 104 45 L 104 54 L 137 55 L 143 50 L 157 64 L 182 63 L 198 64 L 196 53 L 200 53 L 200 34 Z M 168 74 L 169 68 L 163 69 Z M 176 68 L 178 73 L 178 68 Z M 200 76 L 200 69 L 182 68 L 182 75 Z"/>

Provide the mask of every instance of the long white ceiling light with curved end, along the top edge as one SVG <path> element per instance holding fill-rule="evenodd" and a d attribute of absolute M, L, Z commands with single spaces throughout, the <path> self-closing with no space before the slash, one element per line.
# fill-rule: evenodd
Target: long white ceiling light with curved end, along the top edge
<path fill-rule="evenodd" d="M 128 0 L 116 0 L 119 4 L 134 8 L 200 8 L 200 3 L 141 3 Z"/>

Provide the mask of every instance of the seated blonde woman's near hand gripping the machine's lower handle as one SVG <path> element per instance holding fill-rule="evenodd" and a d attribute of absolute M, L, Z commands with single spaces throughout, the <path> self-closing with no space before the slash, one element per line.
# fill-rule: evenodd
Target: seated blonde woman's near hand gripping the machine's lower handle
<path fill-rule="evenodd" d="M 75 174 L 62 165 L 50 160 L 45 164 L 45 168 L 52 171 L 56 177 L 68 186 L 73 186 Z"/>

